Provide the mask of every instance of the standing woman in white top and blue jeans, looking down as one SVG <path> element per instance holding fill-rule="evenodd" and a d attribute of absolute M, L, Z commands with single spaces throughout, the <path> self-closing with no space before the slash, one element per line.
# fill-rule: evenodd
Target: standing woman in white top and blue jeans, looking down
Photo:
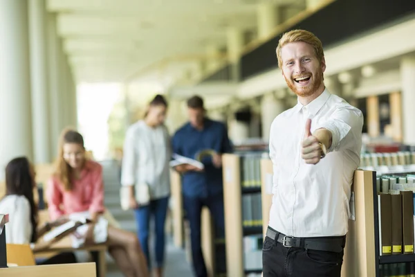
<path fill-rule="evenodd" d="M 150 217 L 154 217 L 156 277 L 163 276 L 165 219 L 170 194 L 171 148 L 169 134 L 164 125 L 166 112 L 165 98 L 157 95 L 149 103 L 145 118 L 127 130 L 122 160 L 121 183 L 123 188 L 129 191 L 129 208 L 133 208 L 136 214 L 138 238 L 147 257 L 149 269 L 149 221 Z"/>

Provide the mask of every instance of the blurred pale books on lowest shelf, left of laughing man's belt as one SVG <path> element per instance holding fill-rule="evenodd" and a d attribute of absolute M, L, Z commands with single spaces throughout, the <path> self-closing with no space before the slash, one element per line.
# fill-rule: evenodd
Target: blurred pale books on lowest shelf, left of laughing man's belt
<path fill-rule="evenodd" d="M 262 269 L 262 235 L 243 237 L 243 267 L 245 271 Z"/>

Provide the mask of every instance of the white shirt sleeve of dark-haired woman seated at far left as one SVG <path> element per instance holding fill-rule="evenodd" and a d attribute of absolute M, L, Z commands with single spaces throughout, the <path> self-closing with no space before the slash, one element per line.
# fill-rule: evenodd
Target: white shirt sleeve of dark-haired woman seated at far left
<path fill-rule="evenodd" d="M 13 221 L 13 224 L 11 224 L 12 228 L 7 231 L 13 234 L 12 243 L 28 244 L 31 240 L 31 232 L 28 232 L 28 230 L 32 229 L 32 223 L 30 222 L 30 204 L 27 199 L 22 198 L 19 198 L 18 202 L 17 211 L 13 214 L 13 218 L 11 219 Z M 6 226 L 8 225 L 6 224 Z"/>

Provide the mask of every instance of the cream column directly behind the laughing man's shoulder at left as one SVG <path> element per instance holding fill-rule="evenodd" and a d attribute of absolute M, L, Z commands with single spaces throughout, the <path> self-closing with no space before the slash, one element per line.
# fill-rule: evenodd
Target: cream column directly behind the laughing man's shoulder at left
<path fill-rule="evenodd" d="M 262 139 L 268 141 L 270 139 L 270 127 L 273 120 L 284 111 L 284 104 L 281 100 L 277 100 L 272 93 L 264 95 L 261 99 L 261 123 L 262 123 Z"/>

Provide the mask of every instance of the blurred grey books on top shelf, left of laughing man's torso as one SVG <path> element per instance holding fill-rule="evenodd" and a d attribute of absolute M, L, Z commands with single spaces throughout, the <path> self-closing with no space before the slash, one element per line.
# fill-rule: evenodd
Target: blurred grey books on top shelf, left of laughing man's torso
<path fill-rule="evenodd" d="M 243 188 L 261 187 L 261 152 L 241 154 L 241 186 Z"/>

